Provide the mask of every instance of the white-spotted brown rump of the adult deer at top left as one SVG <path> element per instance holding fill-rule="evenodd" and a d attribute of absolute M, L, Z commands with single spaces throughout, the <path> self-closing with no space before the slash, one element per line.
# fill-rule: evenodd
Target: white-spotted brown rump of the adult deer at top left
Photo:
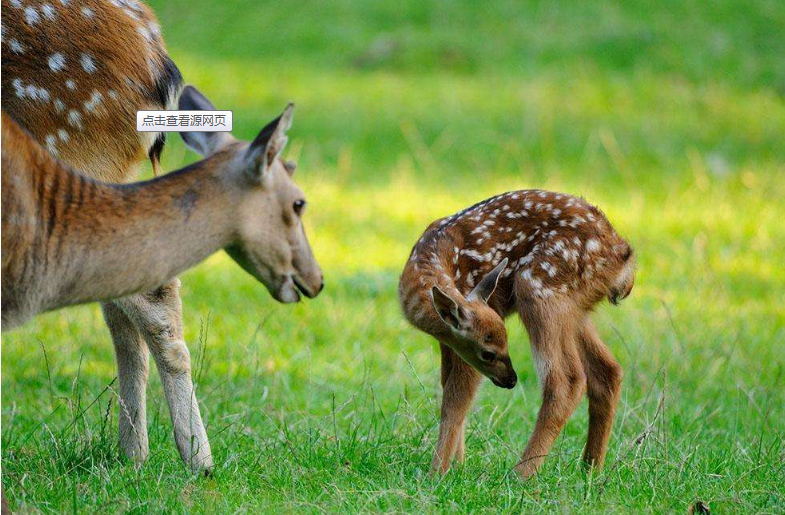
<path fill-rule="evenodd" d="M 160 135 L 136 132 L 136 111 L 174 108 L 182 79 L 152 11 L 115 3 L 3 0 L 2 107 L 54 156 L 125 182 L 148 155 L 158 166 Z"/>

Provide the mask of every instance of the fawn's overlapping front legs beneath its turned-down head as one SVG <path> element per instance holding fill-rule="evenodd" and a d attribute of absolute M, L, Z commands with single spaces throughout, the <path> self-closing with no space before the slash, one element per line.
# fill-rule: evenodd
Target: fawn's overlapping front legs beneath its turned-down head
<path fill-rule="evenodd" d="M 431 468 L 444 474 L 449 470 L 453 457 L 463 460 L 463 428 L 481 376 L 452 349 L 443 343 L 439 348 L 442 353 L 442 410 L 439 441 L 436 443 Z"/>

